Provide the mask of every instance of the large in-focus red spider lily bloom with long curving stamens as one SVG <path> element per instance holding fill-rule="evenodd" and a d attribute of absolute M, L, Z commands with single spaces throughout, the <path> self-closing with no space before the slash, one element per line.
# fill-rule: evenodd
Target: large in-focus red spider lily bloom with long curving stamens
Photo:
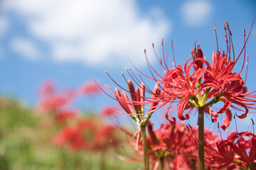
<path fill-rule="evenodd" d="M 242 56 L 242 52 L 245 52 L 245 45 L 252 28 L 245 39 L 238 57 L 235 57 L 233 52 L 234 47 L 229 26 L 228 29 L 225 26 L 225 30 L 227 50 L 222 53 L 219 50 L 213 52 L 212 65 L 203 58 L 203 52 L 199 45 L 197 48 L 193 48 L 191 52 L 192 57 L 186 60 L 183 67 L 181 67 L 181 65 L 176 66 L 174 62 L 174 68 L 170 69 L 166 60 L 167 55 L 163 55 L 160 59 L 156 55 L 161 64 L 161 69 L 166 72 L 166 74 L 159 74 L 151 64 L 149 64 L 152 75 L 153 73 L 156 75 L 153 75 L 153 78 L 149 78 L 159 81 L 159 84 L 162 84 L 161 96 L 159 96 L 159 100 L 161 100 L 160 103 L 162 104 L 159 105 L 158 108 L 164 106 L 166 103 L 178 103 L 177 114 L 178 118 L 181 120 L 187 120 L 189 118 L 189 113 L 191 113 L 194 107 L 204 108 L 204 112 L 214 117 L 213 121 L 218 119 L 218 114 L 226 113 L 223 125 L 221 126 L 223 130 L 228 128 L 232 120 L 230 107 L 238 111 L 242 111 L 241 108 L 245 109 L 245 113 L 238 115 L 239 118 L 245 118 L 250 108 L 256 109 L 255 91 L 247 93 L 245 81 L 242 80 L 240 75 L 245 65 L 245 55 L 240 72 L 233 72 L 233 68 Z M 233 57 L 231 57 L 232 54 Z M 191 68 L 193 68 L 193 70 Z M 146 75 L 144 74 L 144 76 Z M 218 101 L 223 101 L 224 106 L 223 108 L 220 108 L 219 111 L 213 112 L 210 106 L 214 103 L 218 103 Z M 183 115 L 186 110 L 188 110 L 188 113 Z M 166 115 L 166 118 L 168 118 L 168 115 Z"/>

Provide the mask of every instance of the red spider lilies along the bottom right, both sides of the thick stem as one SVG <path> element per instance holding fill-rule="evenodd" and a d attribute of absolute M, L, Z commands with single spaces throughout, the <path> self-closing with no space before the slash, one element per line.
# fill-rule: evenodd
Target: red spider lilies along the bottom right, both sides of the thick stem
<path fill-rule="evenodd" d="M 152 169 L 198 169 L 198 128 L 183 123 L 161 124 L 154 130 L 148 123 L 149 162 Z M 207 169 L 255 169 L 256 135 L 252 132 L 233 132 L 220 140 L 211 130 L 205 130 Z M 135 146 L 135 144 L 134 144 Z M 139 153 L 142 142 L 139 142 Z M 162 165 L 161 165 L 162 164 Z"/>

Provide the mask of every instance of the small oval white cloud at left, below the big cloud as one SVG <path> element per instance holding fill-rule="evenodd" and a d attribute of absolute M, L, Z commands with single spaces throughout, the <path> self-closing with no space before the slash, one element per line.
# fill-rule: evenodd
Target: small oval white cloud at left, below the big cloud
<path fill-rule="evenodd" d="M 41 56 L 41 52 L 38 50 L 36 44 L 28 39 L 16 38 L 11 40 L 10 47 L 14 52 L 17 52 L 27 60 L 36 61 Z"/>

